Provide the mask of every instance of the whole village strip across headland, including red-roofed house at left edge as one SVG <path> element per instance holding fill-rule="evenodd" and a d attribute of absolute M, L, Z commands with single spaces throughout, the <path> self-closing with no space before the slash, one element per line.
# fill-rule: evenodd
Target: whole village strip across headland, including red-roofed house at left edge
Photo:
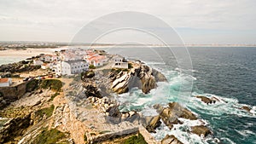
<path fill-rule="evenodd" d="M 23 78 L 23 81 L 33 78 L 61 78 L 63 75 L 71 76 L 103 66 L 108 68 L 128 68 L 128 61 L 125 60 L 125 57 L 121 55 L 108 55 L 104 50 L 96 49 L 61 49 L 53 54 L 32 56 L 32 58 L 26 59 L 24 63 L 26 63 L 24 66 L 30 64 L 37 67 L 36 69 L 40 68 L 38 72 L 19 72 L 15 67 L 9 67 L 11 69 L 15 68 L 17 74 L 20 74 L 19 77 Z M 11 86 L 21 82 L 19 77 L 14 79 L 4 78 L 14 71 L 9 71 L 4 66 L 2 66 L 2 69 L 4 71 L 2 70 L 1 72 L 1 86 Z"/>

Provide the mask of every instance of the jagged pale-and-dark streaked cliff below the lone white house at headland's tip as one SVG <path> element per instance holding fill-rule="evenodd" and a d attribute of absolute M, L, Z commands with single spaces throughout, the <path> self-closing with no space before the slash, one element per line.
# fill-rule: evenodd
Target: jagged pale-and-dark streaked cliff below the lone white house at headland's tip
<path fill-rule="evenodd" d="M 137 65 L 131 70 L 124 72 L 119 69 L 113 70 L 109 74 L 111 89 L 118 94 L 128 92 L 129 89 L 138 87 L 147 94 L 150 89 L 156 87 L 156 82 L 166 81 L 164 75 L 149 66 Z"/>

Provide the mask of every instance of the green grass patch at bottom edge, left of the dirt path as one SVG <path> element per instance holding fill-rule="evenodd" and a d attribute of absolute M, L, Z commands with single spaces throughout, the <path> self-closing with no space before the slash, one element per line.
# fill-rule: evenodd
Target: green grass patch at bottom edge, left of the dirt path
<path fill-rule="evenodd" d="M 35 139 L 32 141 L 32 144 L 54 144 L 66 137 L 67 135 L 59 130 L 47 130 L 47 128 L 44 128 L 44 130 L 35 137 Z M 62 141 L 62 143 L 63 142 L 64 141 Z"/>

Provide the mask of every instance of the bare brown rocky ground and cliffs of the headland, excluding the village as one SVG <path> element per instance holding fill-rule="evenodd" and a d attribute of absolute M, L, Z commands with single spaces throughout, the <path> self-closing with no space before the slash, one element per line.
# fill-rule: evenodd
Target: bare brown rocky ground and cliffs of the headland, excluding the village
<path fill-rule="evenodd" d="M 24 69 L 25 72 L 35 70 Z M 141 112 L 120 112 L 119 102 L 113 97 L 135 87 L 148 94 L 157 88 L 158 82 L 166 81 L 162 73 L 137 62 L 131 62 L 129 69 L 90 70 L 73 78 L 32 80 L 26 83 L 19 98 L 2 107 L 1 142 L 34 143 L 55 132 L 59 136 L 55 142 L 63 143 L 124 142 L 138 135 L 146 143 L 182 143 L 174 135 L 155 141 L 150 133 L 155 133 L 160 124 L 172 130 L 173 124 L 183 123 L 179 118 L 198 119 L 189 109 L 171 102 L 167 106 L 155 105 L 158 115 L 143 116 Z M 191 127 L 190 132 L 203 137 L 212 134 L 204 124 Z"/>

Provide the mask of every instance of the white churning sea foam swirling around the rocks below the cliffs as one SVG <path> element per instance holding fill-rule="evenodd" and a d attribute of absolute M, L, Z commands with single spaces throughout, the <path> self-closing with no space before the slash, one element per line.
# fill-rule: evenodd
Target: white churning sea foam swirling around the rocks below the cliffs
<path fill-rule="evenodd" d="M 161 104 L 163 106 L 166 106 L 166 104 L 170 101 L 177 101 L 184 107 L 191 107 L 192 110 L 195 109 L 196 111 L 200 111 L 201 113 L 211 115 L 212 118 L 218 119 L 218 121 L 221 120 L 219 116 L 223 114 L 235 114 L 239 117 L 255 117 L 255 106 L 253 106 L 252 110 L 250 111 L 251 113 L 246 112 L 240 107 L 247 105 L 240 104 L 239 101 L 235 98 L 226 98 L 219 95 L 212 95 L 207 93 L 201 94 L 196 92 L 193 92 L 192 95 L 178 94 L 178 90 L 180 89 L 182 84 L 189 84 L 191 80 L 196 80 L 196 78 L 178 73 L 176 71 L 166 71 L 164 73 L 166 74 L 168 83 L 158 83 L 158 87 L 156 89 L 152 89 L 147 95 L 143 94 L 140 89 L 132 89 L 130 94 L 123 94 L 118 97 L 118 100 L 120 101 L 120 103 L 125 103 L 124 107 L 128 110 L 132 110 L 134 107 L 141 107 L 142 113 L 145 116 L 157 115 L 157 112 L 153 108 L 154 104 Z M 217 101 L 215 104 L 207 105 L 200 99 L 196 98 L 195 95 L 203 95 L 207 97 L 214 96 L 219 101 Z M 175 135 L 177 139 L 179 141 L 182 141 L 183 143 L 207 143 L 207 141 L 211 141 L 212 143 L 218 143 L 218 141 L 228 141 L 228 143 L 234 143 L 234 141 L 231 141 L 229 138 L 225 137 L 214 138 L 209 136 L 202 139 L 200 136 L 188 132 L 190 126 L 201 124 L 209 125 L 208 122 L 204 119 L 188 120 L 184 118 L 179 118 L 179 120 L 182 121 L 183 124 L 174 124 L 173 129 L 169 130 L 169 128 L 162 123 L 160 127 L 157 128 L 156 133 L 153 133 L 152 135 L 156 140 L 159 141 L 162 140 L 166 135 Z M 250 130 L 239 132 L 241 133 L 241 135 L 253 134 L 253 131 Z"/>

